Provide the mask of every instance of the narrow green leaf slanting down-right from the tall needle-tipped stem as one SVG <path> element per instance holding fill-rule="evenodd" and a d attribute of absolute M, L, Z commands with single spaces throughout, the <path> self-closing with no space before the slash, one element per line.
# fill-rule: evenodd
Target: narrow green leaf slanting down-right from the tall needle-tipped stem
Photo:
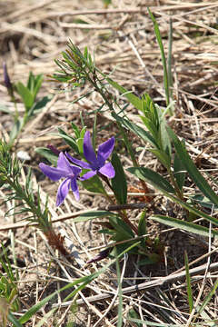
<path fill-rule="evenodd" d="M 158 147 L 158 145 L 156 144 L 154 137 L 144 131 L 144 129 L 142 127 L 140 127 L 137 124 L 132 123 L 130 120 L 128 120 L 127 118 L 122 118 L 120 116 L 118 116 L 115 113 L 112 113 L 112 116 L 114 117 L 114 119 L 122 124 L 125 128 L 127 128 L 127 130 L 133 132 L 134 134 L 136 134 L 137 136 L 139 136 L 145 143 L 149 143 L 152 144 L 155 148 Z"/>

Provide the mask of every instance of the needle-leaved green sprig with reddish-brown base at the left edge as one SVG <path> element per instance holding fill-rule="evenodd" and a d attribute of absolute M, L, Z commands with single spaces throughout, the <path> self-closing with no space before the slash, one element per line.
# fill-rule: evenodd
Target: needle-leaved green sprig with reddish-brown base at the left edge
<path fill-rule="evenodd" d="M 23 214 L 25 220 L 36 223 L 50 245 L 67 255 L 63 240 L 54 232 L 47 202 L 43 204 L 39 190 L 33 188 L 31 170 L 26 175 L 24 185 L 20 181 L 21 170 L 22 164 L 10 154 L 10 145 L 0 140 L 0 187 L 5 191 L 4 202 L 15 200 L 13 214 Z"/>

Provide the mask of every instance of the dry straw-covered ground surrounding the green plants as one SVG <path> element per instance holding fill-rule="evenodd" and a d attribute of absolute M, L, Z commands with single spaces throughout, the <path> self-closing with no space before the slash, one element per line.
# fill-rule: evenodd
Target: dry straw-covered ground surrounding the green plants
<path fill-rule="evenodd" d="M 5 61 L 12 81 L 21 80 L 25 83 L 30 71 L 34 74 L 45 74 L 45 80 L 39 96 L 53 95 L 52 101 L 42 113 L 26 125 L 13 153 L 23 150 L 30 156 L 25 163 L 34 171 L 36 180 L 41 187 L 41 195 L 49 195 L 49 208 L 54 219 L 57 233 L 62 233 L 65 246 L 74 255 L 74 267 L 69 266 L 64 258 L 50 248 L 43 233 L 35 227 L 24 227 L 22 223 L 14 229 L 15 253 L 21 260 L 19 267 L 19 297 L 21 313 L 30 308 L 45 295 L 60 288 L 64 282 L 94 272 L 103 266 L 101 263 L 85 266 L 99 249 L 104 248 L 104 237 L 98 233 L 99 226 L 94 223 L 74 223 L 71 213 L 94 209 L 106 205 L 100 196 L 81 190 L 81 200 L 74 201 L 70 194 L 65 203 L 57 210 L 55 208 L 55 193 L 57 183 L 51 183 L 40 173 L 38 163 L 43 159 L 35 153 L 35 148 L 53 144 L 58 149 L 67 149 L 62 139 L 57 136 L 57 127 L 72 133 L 70 122 L 80 125 L 80 113 L 84 116 L 84 124 L 92 129 L 94 110 L 102 104 L 98 94 L 92 93 L 80 101 L 73 101 L 87 94 L 89 85 L 71 91 L 66 85 L 48 81 L 48 74 L 56 70 L 54 59 L 61 57 L 67 41 L 71 39 L 82 51 L 87 46 L 94 52 L 95 64 L 104 73 L 111 74 L 113 79 L 137 95 L 150 94 L 154 102 L 164 105 L 163 65 L 161 54 L 154 35 L 151 18 L 146 6 L 154 13 L 167 54 L 169 22 L 173 22 L 173 99 L 175 109 L 169 124 L 174 131 L 183 137 L 189 153 L 202 170 L 216 178 L 217 168 L 217 130 L 218 130 L 218 16 L 217 1 L 128 1 L 112 0 L 106 6 L 104 1 L 93 0 L 5 0 L 0 2 L 0 98 L 1 104 L 12 111 L 14 104 L 6 92 L 3 81 L 2 63 Z M 114 92 L 113 90 L 111 90 Z M 115 93 L 115 92 L 114 92 Z M 118 95 L 118 94 L 117 94 Z M 124 101 L 122 98 L 121 101 Z M 18 103 L 19 114 L 24 114 L 24 106 Z M 136 110 L 128 106 L 129 117 L 139 122 Z M 117 133 L 114 123 L 107 112 L 102 113 L 98 120 L 98 144 Z M 12 128 L 12 120 L 8 114 L 0 113 L 0 136 L 8 139 Z M 133 135 L 131 135 L 132 137 Z M 134 137 L 134 136 L 133 136 Z M 134 138 L 135 147 L 142 145 Z M 131 163 L 123 154 L 124 167 Z M 145 151 L 141 164 L 162 172 L 162 166 L 154 157 Z M 164 172 L 163 172 L 164 173 Z M 23 175 L 25 181 L 25 173 Z M 129 185 L 134 181 L 129 178 Z M 36 187 L 36 186 L 35 186 Z M 216 188 L 217 189 L 217 188 Z M 190 183 L 187 193 L 193 191 Z M 156 194 L 156 193 L 155 193 Z M 1 196 L 3 194 L 1 193 Z M 137 202 L 138 197 L 131 197 L 131 202 Z M 11 237 L 10 229 L 4 229 L 9 223 L 14 223 L 11 217 L 5 217 L 5 211 L 13 203 L 1 207 L 0 238 L 3 243 Z M 153 208 L 148 208 L 147 217 L 154 213 L 181 216 L 181 209 L 168 203 L 161 194 L 155 196 Z M 130 213 L 136 220 L 137 211 Z M 66 219 L 68 217 L 68 219 Z M 16 217 L 16 222 L 26 217 Z M 148 223 L 148 232 L 154 239 L 159 235 L 164 246 L 163 263 L 138 267 L 139 258 L 131 256 L 124 259 L 123 287 L 134 286 L 142 282 L 152 282 L 157 279 L 157 285 L 146 292 L 131 292 L 124 295 L 124 318 L 133 308 L 138 317 L 151 322 L 185 323 L 189 316 L 184 279 L 164 283 L 162 277 L 183 268 L 184 250 L 189 261 L 199 261 L 192 267 L 206 263 L 201 259 L 208 252 L 206 240 L 178 230 L 167 230 L 166 226 Z M 216 256 L 211 257 L 212 262 Z M 193 294 L 201 287 L 201 279 L 194 283 Z M 211 280 L 207 281 L 208 289 Z M 100 294 L 96 302 L 79 302 L 78 307 L 70 310 L 61 306 L 64 295 L 55 299 L 60 309 L 54 317 L 45 322 L 45 326 L 63 325 L 72 322 L 74 326 L 115 326 L 117 319 L 117 282 L 115 267 L 101 275 L 97 281 L 90 284 L 79 294 L 78 299 Z M 207 288 L 205 287 L 205 293 Z M 107 299 L 101 294 L 110 293 Z M 82 303 L 82 304 L 81 304 Z M 51 309 L 52 303 L 38 312 L 30 326 Z M 211 319 L 216 318 L 216 312 L 211 308 Z M 73 324 L 74 322 L 74 324 Z M 136 325 L 124 322 L 125 326 Z M 27 325 L 27 324 L 26 324 Z M 70 324 L 69 324 L 70 326 Z"/>

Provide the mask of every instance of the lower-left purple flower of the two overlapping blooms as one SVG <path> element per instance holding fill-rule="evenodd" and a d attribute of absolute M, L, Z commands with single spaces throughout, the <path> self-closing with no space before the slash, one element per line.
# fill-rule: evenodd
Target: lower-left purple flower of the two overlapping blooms
<path fill-rule="evenodd" d="M 70 164 L 63 153 L 59 154 L 57 160 L 57 167 L 50 167 L 45 163 L 39 163 L 39 168 L 47 177 L 49 177 L 54 182 L 59 181 L 64 177 L 64 182 L 62 182 L 58 188 L 56 196 L 56 206 L 59 206 L 64 202 L 64 199 L 69 192 L 70 186 L 74 193 L 75 200 L 79 200 L 79 191 L 76 183 L 76 178 L 81 173 L 82 169 L 75 167 Z"/>

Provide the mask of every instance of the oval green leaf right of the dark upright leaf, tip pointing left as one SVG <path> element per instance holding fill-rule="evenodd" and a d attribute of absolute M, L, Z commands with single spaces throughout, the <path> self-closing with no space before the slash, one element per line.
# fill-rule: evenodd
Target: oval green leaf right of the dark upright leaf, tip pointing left
<path fill-rule="evenodd" d="M 174 193 L 174 189 L 171 184 L 160 175 L 160 173 L 155 173 L 151 169 L 144 167 L 131 167 L 127 169 L 128 172 L 134 173 L 139 179 L 151 183 L 154 188 L 166 191 L 169 193 Z"/>

